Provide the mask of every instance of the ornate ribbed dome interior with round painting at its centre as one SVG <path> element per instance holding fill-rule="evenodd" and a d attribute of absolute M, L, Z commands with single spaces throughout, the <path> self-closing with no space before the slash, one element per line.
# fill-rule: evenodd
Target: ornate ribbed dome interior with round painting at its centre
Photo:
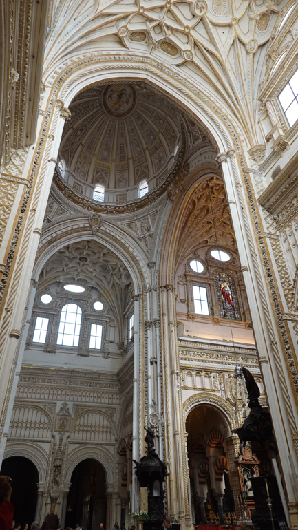
<path fill-rule="evenodd" d="M 150 192 L 175 166 L 181 113 L 147 85 L 91 87 L 74 98 L 70 112 L 60 157 L 65 180 L 78 193 L 91 198 L 94 185 L 102 184 L 105 202 L 136 200 L 142 180 Z"/>

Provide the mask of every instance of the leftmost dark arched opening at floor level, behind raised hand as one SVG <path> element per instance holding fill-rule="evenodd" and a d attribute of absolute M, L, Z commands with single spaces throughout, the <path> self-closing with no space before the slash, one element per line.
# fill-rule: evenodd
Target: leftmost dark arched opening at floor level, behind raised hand
<path fill-rule="evenodd" d="M 35 518 L 37 502 L 37 483 L 39 473 L 28 458 L 10 456 L 3 460 L 1 475 L 12 478 L 12 498 L 14 505 L 14 520 L 16 523 L 32 524 Z"/>

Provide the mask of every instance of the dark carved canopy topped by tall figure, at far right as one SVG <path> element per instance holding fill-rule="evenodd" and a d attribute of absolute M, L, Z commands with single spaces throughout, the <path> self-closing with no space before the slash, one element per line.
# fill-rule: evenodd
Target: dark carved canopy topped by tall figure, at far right
<path fill-rule="evenodd" d="M 261 405 L 259 404 L 259 387 L 255 382 L 255 379 L 246 368 L 242 368 L 244 375 L 246 390 L 248 392 L 248 407 L 251 412 L 248 414 L 242 427 L 234 429 L 240 438 L 241 443 L 244 445 L 248 441 L 259 442 L 262 447 L 268 445 L 268 447 L 277 454 L 277 445 L 273 435 L 273 425 L 270 414 L 264 412 Z"/>

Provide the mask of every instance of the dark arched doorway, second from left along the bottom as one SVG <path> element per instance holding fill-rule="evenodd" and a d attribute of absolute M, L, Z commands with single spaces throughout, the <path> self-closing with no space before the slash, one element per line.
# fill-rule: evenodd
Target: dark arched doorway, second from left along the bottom
<path fill-rule="evenodd" d="M 107 496 L 105 470 L 94 458 L 82 460 L 72 472 L 72 485 L 67 497 L 65 528 L 78 523 L 85 530 L 105 528 Z"/>

